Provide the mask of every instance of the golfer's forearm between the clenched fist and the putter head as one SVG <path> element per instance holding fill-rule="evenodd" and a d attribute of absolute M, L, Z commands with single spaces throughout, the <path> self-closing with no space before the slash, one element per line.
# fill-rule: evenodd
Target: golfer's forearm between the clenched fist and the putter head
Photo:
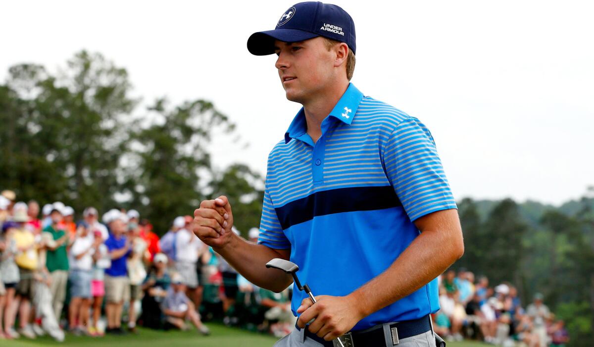
<path fill-rule="evenodd" d="M 292 277 L 283 271 L 266 268 L 266 263 L 273 258 L 286 258 L 288 252 L 276 251 L 264 245 L 252 243 L 235 236 L 222 249 L 214 249 L 229 265 L 237 270 L 249 282 L 273 292 L 281 292 L 292 282 Z"/>

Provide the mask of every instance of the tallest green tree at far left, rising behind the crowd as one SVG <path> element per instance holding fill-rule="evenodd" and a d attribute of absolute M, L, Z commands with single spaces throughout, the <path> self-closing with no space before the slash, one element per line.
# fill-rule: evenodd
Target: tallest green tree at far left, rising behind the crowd
<path fill-rule="evenodd" d="M 4 86 L 2 133 L 11 173 L 6 186 L 20 199 L 71 204 L 81 211 L 113 205 L 127 141 L 123 115 L 136 100 L 124 68 L 81 51 L 59 76 L 40 65 L 11 67 Z M 6 139 L 6 142 L 4 140 Z"/>

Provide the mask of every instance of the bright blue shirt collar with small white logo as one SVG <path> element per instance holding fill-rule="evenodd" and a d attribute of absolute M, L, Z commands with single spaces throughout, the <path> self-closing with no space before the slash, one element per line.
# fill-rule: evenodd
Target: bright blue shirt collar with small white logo
<path fill-rule="evenodd" d="M 343 123 L 350 125 L 352 123 L 353 118 L 355 117 L 355 113 L 357 112 L 357 108 L 359 108 L 359 103 L 363 99 L 363 93 L 353 85 L 353 83 L 349 83 L 349 87 L 346 89 L 345 93 L 342 95 L 340 100 L 336 103 L 332 111 L 330 111 L 330 116 L 342 121 Z M 307 123 L 305 121 L 305 112 L 303 107 L 297 114 L 293 121 L 291 122 L 289 129 L 285 133 L 285 143 L 289 143 L 291 139 L 295 139 L 304 135 L 307 132 Z"/>

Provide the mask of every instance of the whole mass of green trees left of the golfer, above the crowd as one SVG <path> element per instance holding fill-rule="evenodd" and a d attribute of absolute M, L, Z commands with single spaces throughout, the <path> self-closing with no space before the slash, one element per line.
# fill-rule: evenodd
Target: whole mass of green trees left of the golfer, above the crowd
<path fill-rule="evenodd" d="M 208 144 L 214 130 L 233 131 L 229 118 L 202 99 L 165 98 L 134 117 L 131 91 L 127 71 L 97 53 L 78 52 L 58 74 L 11 67 L 0 85 L 0 188 L 79 216 L 88 206 L 135 208 L 159 234 L 216 190 L 231 197 L 238 227 L 258 226 L 260 177 L 236 165 L 212 179 Z"/>

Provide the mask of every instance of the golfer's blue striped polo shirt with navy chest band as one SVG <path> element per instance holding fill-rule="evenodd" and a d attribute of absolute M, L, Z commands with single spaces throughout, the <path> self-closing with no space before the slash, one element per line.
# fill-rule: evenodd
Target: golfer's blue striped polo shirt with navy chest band
<path fill-rule="evenodd" d="M 431 133 L 417 118 L 350 84 L 321 131 L 314 143 L 302 108 L 270 152 L 258 243 L 290 248 L 299 280 L 314 295 L 345 296 L 390 267 L 419 235 L 413 221 L 457 207 Z M 307 295 L 293 289 L 297 315 Z M 433 280 L 353 330 L 437 310 Z"/>

